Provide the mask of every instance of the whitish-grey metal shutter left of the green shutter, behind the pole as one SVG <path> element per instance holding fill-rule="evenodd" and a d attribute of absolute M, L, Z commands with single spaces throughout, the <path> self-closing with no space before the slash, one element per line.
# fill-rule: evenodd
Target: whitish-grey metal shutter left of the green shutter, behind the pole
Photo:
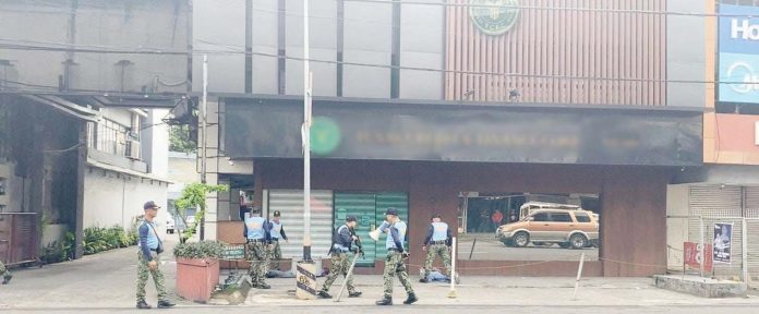
<path fill-rule="evenodd" d="M 280 221 L 290 240 L 281 243 L 282 257 L 300 261 L 303 257 L 303 191 L 269 190 L 268 215 L 281 213 Z M 333 192 L 311 191 L 311 257 L 327 256 L 332 244 Z"/>

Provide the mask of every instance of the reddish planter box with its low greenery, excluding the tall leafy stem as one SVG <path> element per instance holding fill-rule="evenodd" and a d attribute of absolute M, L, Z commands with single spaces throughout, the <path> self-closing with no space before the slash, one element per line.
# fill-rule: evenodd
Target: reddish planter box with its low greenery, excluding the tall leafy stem
<path fill-rule="evenodd" d="M 179 243 L 177 258 L 177 294 L 195 302 L 207 302 L 219 283 L 219 258 L 224 243 L 201 241 Z"/>

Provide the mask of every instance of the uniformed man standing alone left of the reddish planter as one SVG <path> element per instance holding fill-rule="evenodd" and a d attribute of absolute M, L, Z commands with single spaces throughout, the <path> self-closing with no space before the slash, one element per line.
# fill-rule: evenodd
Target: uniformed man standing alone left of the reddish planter
<path fill-rule="evenodd" d="M 145 285 L 147 283 L 148 274 L 153 276 L 153 282 L 156 283 L 158 291 L 158 309 L 167 309 L 174 306 L 166 298 L 166 285 L 164 273 L 160 271 L 160 253 L 164 253 L 164 243 L 156 231 L 155 218 L 158 215 L 160 206 L 150 201 L 145 203 L 143 209 L 145 217 L 143 218 L 140 228 L 140 244 L 138 244 L 138 263 L 137 263 L 137 309 L 150 309 L 145 302 Z"/>

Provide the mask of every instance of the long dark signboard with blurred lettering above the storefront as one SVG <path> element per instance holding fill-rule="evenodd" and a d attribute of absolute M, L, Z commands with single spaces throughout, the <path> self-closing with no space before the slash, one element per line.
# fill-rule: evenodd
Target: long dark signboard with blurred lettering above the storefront
<path fill-rule="evenodd" d="M 301 158 L 302 101 L 228 99 L 232 158 Z M 699 166 L 700 111 L 315 102 L 313 158 Z"/>

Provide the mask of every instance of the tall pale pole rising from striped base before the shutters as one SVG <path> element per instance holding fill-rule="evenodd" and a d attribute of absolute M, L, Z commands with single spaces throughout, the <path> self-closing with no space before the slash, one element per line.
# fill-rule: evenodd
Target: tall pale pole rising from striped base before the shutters
<path fill-rule="evenodd" d="M 309 0 L 303 0 L 303 261 L 311 262 L 311 69 Z"/>

